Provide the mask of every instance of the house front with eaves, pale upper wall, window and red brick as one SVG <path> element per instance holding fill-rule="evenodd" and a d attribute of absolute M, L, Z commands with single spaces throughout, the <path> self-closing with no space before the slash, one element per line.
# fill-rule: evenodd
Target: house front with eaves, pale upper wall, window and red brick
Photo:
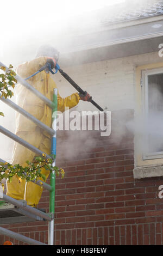
<path fill-rule="evenodd" d="M 55 245 L 163 243 L 163 1 L 139 4 L 127 9 L 126 1 L 125 13 L 120 5 L 101 10 L 87 30 L 79 17 L 80 32 L 74 27 L 65 35 L 60 66 L 111 111 L 111 134 L 57 132 L 57 166 L 65 178 L 56 184 Z M 60 95 L 74 92 L 60 74 L 53 78 Z M 73 110 L 96 108 L 80 102 Z M 39 208 L 48 212 L 46 190 Z M 3 227 L 48 241 L 46 221 Z"/>

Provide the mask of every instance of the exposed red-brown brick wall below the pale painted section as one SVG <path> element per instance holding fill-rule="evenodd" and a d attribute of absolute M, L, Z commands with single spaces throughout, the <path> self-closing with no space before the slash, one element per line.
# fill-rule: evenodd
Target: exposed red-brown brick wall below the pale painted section
<path fill-rule="evenodd" d="M 158 198 L 163 178 L 134 180 L 134 136 L 127 131 L 115 140 L 115 130 L 110 137 L 97 131 L 58 132 L 57 166 L 66 174 L 56 184 L 56 245 L 163 244 L 163 199 Z M 78 134 L 77 143 L 72 144 L 70 133 Z M 68 149 L 73 154 L 67 157 Z M 39 208 L 48 212 L 48 191 L 43 191 Z M 47 221 L 3 227 L 48 241 Z M 1 235 L 0 244 L 4 240 L 8 237 Z"/>

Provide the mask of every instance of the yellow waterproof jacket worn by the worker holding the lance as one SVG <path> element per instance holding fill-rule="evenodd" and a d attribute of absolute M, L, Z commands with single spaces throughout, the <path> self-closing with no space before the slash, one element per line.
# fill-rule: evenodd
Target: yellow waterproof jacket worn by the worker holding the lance
<path fill-rule="evenodd" d="M 38 57 L 30 62 L 26 62 L 18 66 L 17 74 L 22 78 L 27 78 L 28 76 L 34 74 L 43 65 L 46 64 L 47 57 Z M 45 95 L 49 100 L 53 100 L 53 89 L 56 88 L 56 84 L 49 74 L 45 71 L 40 72 L 34 77 L 28 80 L 36 90 Z M 16 96 L 17 104 L 24 108 L 27 112 L 34 115 L 35 118 L 39 119 L 48 126 L 51 126 L 52 122 L 52 109 L 46 105 L 39 97 L 35 96 L 32 92 L 26 89 L 22 85 L 16 86 Z M 72 108 L 76 106 L 80 100 L 78 93 L 73 93 L 72 95 L 65 97 L 63 99 L 58 93 L 58 111 L 64 112 L 65 107 Z M 18 131 L 34 131 L 36 124 L 27 118 L 23 117 L 21 114 L 16 115 L 16 132 Z"/>

